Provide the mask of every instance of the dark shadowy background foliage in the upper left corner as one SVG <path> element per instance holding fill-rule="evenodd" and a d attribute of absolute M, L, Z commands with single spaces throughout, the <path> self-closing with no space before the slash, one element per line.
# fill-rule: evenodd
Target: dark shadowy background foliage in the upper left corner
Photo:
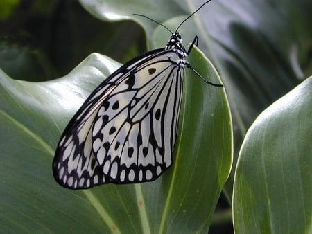
<path fill-rule="evenodd" d="M 78 1 L 16 1 L 0 20 L 1 69 L 17 80 L 59 78 L 94 52 L 124 63 L 146 51 L 140 26 L 96 19 Z"/>

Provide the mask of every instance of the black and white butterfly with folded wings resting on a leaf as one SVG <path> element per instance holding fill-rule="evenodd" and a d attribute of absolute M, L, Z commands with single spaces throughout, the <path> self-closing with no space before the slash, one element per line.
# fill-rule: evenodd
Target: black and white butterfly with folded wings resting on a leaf
<path fill-rule="evenodd" d="M 153 181 L 167 170 L 177 138 L 184 68 L 195 71 L 186 57 L 197 43 L 195 37 L 187 51 L 175 30 L 165 48 L 135 57 L 104 80 L 60 138 L 55 180 L 66 188 L 92 188 Z"/>

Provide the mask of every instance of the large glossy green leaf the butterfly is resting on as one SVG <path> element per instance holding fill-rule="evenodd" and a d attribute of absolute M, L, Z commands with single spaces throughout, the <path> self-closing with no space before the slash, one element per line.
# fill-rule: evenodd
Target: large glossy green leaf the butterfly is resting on
<path fill-rule="evenodd" d="M 190 62 L 209 81 L 220 83 L 196 48 Z M 231 168 L 232 130 L 224 89 L 205 84 L 192 72 L 184 81 L 174 163 L 157 181 L 75 192 L 53 181 L 51 161 L 62 129 L 116 67 L 94 54 L 51 82 L 15 81 L 1 73 L 3 231 L 207 232 Z"/>

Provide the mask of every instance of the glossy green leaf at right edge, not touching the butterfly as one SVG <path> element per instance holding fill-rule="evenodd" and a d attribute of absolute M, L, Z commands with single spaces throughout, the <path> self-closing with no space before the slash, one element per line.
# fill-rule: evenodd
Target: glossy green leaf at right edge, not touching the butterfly
<path fill-rule="evenodd" d="M 234 181 L 236 233 L 311 233 L 312 77 L 274 102 L 243 141 Z"/>

